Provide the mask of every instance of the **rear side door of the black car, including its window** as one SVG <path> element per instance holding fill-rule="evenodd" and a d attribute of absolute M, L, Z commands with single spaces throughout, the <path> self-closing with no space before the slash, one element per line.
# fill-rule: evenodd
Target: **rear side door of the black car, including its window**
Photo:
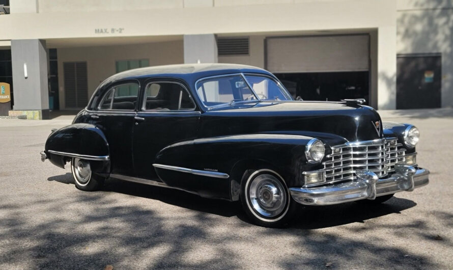
<path fill-rule="evenodd" d="M 132 131 L 140 84 L 124 80 L 110 86 L 90 115 L 105 135 L 110 151 L 111 174 L 133 176 Z"/>

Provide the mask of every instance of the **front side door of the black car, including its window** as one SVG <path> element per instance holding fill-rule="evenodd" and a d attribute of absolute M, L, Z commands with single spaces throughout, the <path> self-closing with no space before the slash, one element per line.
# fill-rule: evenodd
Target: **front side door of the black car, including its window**
<path fill-rule="evenodd" d="M 134 170 L 138 178 L 158 179 L 156 155 L 168 145 L 195 139 L 200 111 L 184 82 L 152 79 L 143 89 L 133 127 Z"/>

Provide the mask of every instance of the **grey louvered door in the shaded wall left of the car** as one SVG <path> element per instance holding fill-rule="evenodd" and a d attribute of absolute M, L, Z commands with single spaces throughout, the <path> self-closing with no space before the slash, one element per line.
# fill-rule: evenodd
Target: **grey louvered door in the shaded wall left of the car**
<path fill-rule="evenodd" d="M 87 62 L 63 63 L 65 104 L 67 108 L 82 108 L 88 104 Z"/>

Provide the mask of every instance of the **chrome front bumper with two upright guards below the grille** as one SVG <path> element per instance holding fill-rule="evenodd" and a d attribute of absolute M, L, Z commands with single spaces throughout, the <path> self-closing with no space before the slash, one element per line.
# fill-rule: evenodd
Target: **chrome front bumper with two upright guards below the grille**
<path fill-rule="evenodd" d="M 385 179 L 365 170 L 357 170 L 357 180 L 320 187 L 291 187 L 293 199 L 305 205 L 329 205 L 363 199 L 374 200 L 377 196 L 413 191 L 415 187 L 429 182 L 427 169 L 415 169 L 405 164 L 396 164 L 395 173 Z"/>

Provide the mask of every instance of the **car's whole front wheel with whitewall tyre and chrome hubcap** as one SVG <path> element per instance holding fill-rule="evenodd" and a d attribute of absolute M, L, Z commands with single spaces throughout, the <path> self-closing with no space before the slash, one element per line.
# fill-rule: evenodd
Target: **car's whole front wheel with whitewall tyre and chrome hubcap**
<path fill-rule="evenodd" d="M 244 173 L 241 202 L 253 223 L 272 228 L 285 226 L 296 208 L 285 180 L 269 169 L 248 170 Z"/>

